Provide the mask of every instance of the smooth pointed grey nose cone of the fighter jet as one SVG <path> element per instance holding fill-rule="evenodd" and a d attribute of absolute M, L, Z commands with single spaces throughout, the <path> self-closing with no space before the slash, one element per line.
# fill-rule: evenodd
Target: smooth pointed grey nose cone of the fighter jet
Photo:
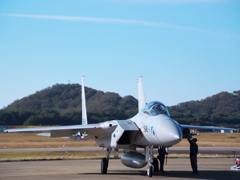
<path fill-rule="evenodd" d="M 172 146 L 182 140 L 182 131 L 174 120 L 165 117 L 160 123 L 158 138 L 163 146 Z"/>

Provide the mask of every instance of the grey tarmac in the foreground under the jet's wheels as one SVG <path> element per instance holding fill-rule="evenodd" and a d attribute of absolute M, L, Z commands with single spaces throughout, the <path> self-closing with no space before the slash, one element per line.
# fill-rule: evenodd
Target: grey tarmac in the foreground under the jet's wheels
<path fill-rule="evenodd" d="M 79 179 L 149 179 L 147 167 L 131 169 L 119 159 L 110 159 L 107 174 L 100 173 L 100 159 L 0 162 L 1 180 L 79 180 Z M 192 174 L 188 158 L 170 158 L 164 174 L 154 174 L 150 179 L 167 180 L 239 180 L 240 171 L 231 171 L 233 158 L 198 158 L 198 174 Z"/>

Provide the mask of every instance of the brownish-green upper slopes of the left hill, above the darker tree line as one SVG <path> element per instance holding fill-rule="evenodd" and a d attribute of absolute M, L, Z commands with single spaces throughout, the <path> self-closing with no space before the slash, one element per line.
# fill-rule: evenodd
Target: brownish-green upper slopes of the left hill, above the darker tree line
<path fill-rule="evenodd" d="M 117 111 L 136 112 L 137 100 L 132 96 L 120 97 L 117 93 L 85 88 L 88 112 L 111 114 Z M 57 84 L 38 91 L 7 106 L 4 110 L 39 111 L 56 110 L 59 113 L 81 111 L 81 85 Z"/>

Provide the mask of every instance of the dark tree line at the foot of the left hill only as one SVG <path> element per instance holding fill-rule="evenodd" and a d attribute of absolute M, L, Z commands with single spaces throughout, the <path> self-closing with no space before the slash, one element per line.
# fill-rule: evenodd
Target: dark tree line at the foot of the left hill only
<path fill-rule="evenodd" d="M 127 119 L 123 112 L 88 113 L 88 123 L 100 123 L 107 120 Z M 60 114 L 55 110 L 41 111 L 0 111 L 0 125 L 75 125 L 82 123 L 82 112 L 67 112 Z"/>

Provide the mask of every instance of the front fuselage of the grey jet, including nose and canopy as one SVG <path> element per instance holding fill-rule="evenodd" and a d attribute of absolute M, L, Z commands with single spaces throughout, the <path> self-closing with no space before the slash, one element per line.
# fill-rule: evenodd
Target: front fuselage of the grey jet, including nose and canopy
<path fill-rule="evenodd" d="M 164 104 L 158 101 L 148 103 L 131 121 L 138 126 L 136 146 L 173 146 L 182 140 L 182 130 L 174 121 Z"/>

